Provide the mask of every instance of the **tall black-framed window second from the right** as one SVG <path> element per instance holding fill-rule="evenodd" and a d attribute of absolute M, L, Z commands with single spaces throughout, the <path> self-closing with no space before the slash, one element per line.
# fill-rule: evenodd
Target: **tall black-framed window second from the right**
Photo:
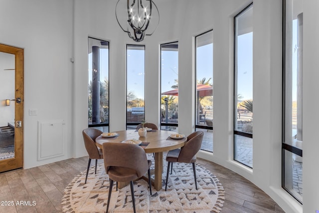
<path fill-rule="evenodd" d="M 253 4 L 234 17 L 234 160 L 253 168 Z"/>

